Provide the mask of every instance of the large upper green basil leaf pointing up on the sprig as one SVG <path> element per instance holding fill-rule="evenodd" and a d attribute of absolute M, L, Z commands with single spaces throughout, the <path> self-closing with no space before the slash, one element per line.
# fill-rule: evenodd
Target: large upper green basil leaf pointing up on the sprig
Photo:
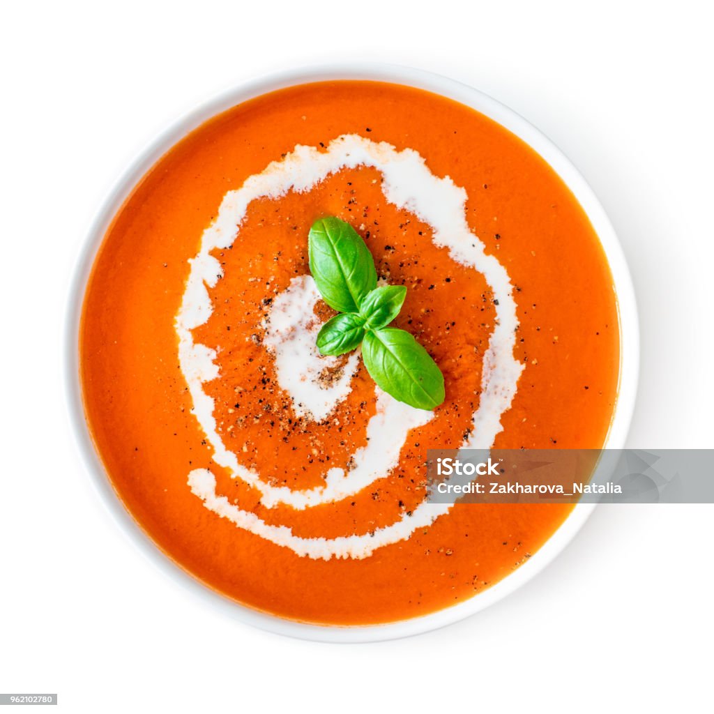
<path fill-rule="evenodd" d="M 377 271 L 357 231 L 339 218 L 321 218 L 310 228 L 308 253 L 323 300 L 339 312 L 358 312 L 363 298 L 377 286 Z"/>

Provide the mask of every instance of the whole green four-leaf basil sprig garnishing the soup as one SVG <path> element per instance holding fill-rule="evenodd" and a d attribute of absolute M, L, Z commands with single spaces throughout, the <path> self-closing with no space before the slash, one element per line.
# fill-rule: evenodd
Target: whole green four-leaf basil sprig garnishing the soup
<path fill-rule="evenodd" d="M 323 300 L 340 314 L 317 336 L 323 355 L 341 355 L 362 346 L 373 380 L 397 401 L 418 409 L 444 401 L 444 378 L 413 336 L 388 327 L 406 298 L 406 286 L 377 287 L 369 248 L 349 223 L 329 216 L 313 223 L 308 237 L 310 270 Z"/>

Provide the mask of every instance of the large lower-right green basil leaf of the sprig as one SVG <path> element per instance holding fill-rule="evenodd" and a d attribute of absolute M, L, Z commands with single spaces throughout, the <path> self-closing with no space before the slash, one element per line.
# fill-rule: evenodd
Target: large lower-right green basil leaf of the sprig
<path fill-rule="evenodd" d="M 444 378 L 413 336 L 395 327 L 368 331 L 362 358 L 371 378 L 397 401 L 431 410 L 444 401 Z"/>

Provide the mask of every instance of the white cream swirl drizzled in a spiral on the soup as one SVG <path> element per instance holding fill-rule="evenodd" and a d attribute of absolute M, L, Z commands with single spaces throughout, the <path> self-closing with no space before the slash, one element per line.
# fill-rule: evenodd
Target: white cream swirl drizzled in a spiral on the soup
<path fill-rule="evenodd" d="M 501 416 L 511 406 L 523 365 L 513 356 L 516 343 L 516 303 L 506 268 L 494 256 L 486 255 L 484 246 L 471 233 L 466 222 L 466 191 L 448 176 L 439 178 L 429 171 L 423 158 L 413 149 L 397 151 L 391 144 L 376 144 L 356 134 L 332 141 L 326 151 L 316 147 L 295 147 L 281 161 L 273 161 L 260 174 L 254 174 L 237 191 L 224 196 L 218 216 L 203 232 L 201 249 L 189 263 L 181 308 L 176 315 L 178 358 L 183 376 L 193 399 L 193 414 L 213 447 L 213 461 L 227 468 L 233 478 L 241 478 L 258 488 L 263 506 L 278 503 L 293 508 L 311 508 L 353 496 L 398 464 L 399 453 L 411 428 L 421 426 L 433 417 L 431 412 L 413 409 L 378 392 L 376 413 L 368 422 L 367 446 L 353 454 L 354 468 L 345 474 L 340 468 L 330 469 L 323 486 L 308 490 L 291 490 L 271 486 L 258 473 L 238 462 L 218 435 L 213 416 L 215 403 L 203 390 L 203 383 L 219 376 L 216 352 L 194 343 L 191 331 L 205 323 L 213 306 L 208 288 L 215 286 L 223 271 L 211 256 L 217 248 L 228 248 L 238 237 L 240 226 L 251 201 L 256 198 L 279 198 L 288 191 L 303 192 L 343 169 L 371 166 L 381 171 L 382 191 L 388 201 L 410 211 L 433 228 L 436 246 L 448 248 L 453 260 L 471 266 L 483 274 L 491 287 L 496 305 L 496 325 L 491 333 L 483 359 L 481 398 L 473 414 L 473 432 L 463 448 L 488 449 L 501 431 Z M 319 325 L 313 316 L 316 288 L 312 278 L 293 279 L 291 285 L 273 300 L 266 323 L 266 347 L 276 357 L 278 383 L 294 401 L 296 414 L 322 421 L 344 399 L 351 388 L 358 354 L 348 358 L 342 376 L 333 387 L 325 389 L 318 375 L 328 362 L 318 356 L 314 337 Z M 321 366 L 322 365 L 322 366 Z M 448 386 L 447 386 L 448 394 Z M 216 494 L 216 478 L 211 471 L 196 469 L 188 476 L 191 491 L 204 506 L 218 516 L 228 518 L 239 528 L 266 538 L 272 543 L 291 548 L 297 555 L 310 558 L 366 558 L 377 548 L 409 538 L 417 528 L 431 525 L 448 504 L 421 503 L 411 513 L 385 528 L 363 535 L 340 538 L 301 538 L 286 526 L 271 526 L 250 511 L 243 511 L 225 496 Z"/>

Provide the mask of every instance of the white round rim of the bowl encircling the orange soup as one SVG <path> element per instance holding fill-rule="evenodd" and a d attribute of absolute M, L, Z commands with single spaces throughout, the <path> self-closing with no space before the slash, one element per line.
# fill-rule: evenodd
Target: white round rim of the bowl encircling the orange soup
<path fill-rule="evenodd" d="M 84 466 L 91 475 L 96 491 L 101 501 L 108 509 L 119 528 L 136 545 L 151 563 L 156 565 L 177 583 L 191 590 L 206 605 L 211 605 L 230 618 L 240 620 L 257 628 L 268 630 L 280 635 L 288 635 L 304 640 L 315 640 L 328 643 L 362 643 L 381 640 L 391 640 L 408 637 L 436 630 L 451 625 L 477 613 L 488 605 L 505 598 L 531 580 L 534 575 L 543 570 L 564 548 L 583 526 L 595 508 L 595 504 L 578 504 L 573 508 L 568 518 L 548 538 L 545 544 L 537 550 L 527 563 L 521 565 L 511 575 L 506 576 L 496 585 L 483 593 L 443 610 L 428 615 L 421 615 L 408 620 L 377 625 L 320 625 L 287 620 L 278 615 L 263 613 L 221 595 L 208 585 L 188 573 L 173 558 L 166 555 L 154 540 L 139 526 L 131 513 L 126 509 L 114 487 L 109 481 L 101 459 L 94 448 L 89 427 L 84 416 L 84 403 L 81 396 L 79 376 L 79 326 L 84 292 L 91 267 L 94 264 L 106 230 L 129 197 L 131 191 L 154 166 L 166 151 L 177 141 L 196 129 L 203 122 L 211 119 L 221 111 L 231 109 L 236 104 L 253 99 L 288 86 L 307 84 L 317 81 L 372 80 L 386 81 L 394 84 L 413 86 L 418 89 L 432 91 L 449 99 L 466 104 L 481 114 L 485 114 L 501 124 L 513 134 L 516 134 L 528 146 L 536 151 L 560 176 L 592 223 L 595 233 L 600 238 L 605 257 L 613 276 L 613 287 L 618 298 L 618 317 L 620 328 L 620 379 L 615 411 L 610 423 L 610 431 L 604 448 L 623 448 L 625 438 L 632 418 L 635 396 L 638 385 L 639 371 L 639 330 L 635 292 L 630 278 L 625 256 L 615 234 L 615 230 L 600 205 L 595 193 L 585 178 L 569 159 L 538 129 L 512 109 L 501 104 L 496 99 L 483 94 L 460 81 L 450 79 L 441 74 L 434 74 L 423 69 L 386 63 L 353 62 L 348 64 L 313 64 L 296 69 L 276 71 L 259 76 L 249 81 L 241 81 L 225 91 L 221 91 L 208 101 L 203 101 L 195 109 L 181 116 L 163 131 L 141 151 L 139 156 L 129 164 L 126 170 L 117 178 L 108 195 L 101 203 L 94 221 L 84 238 L 83 246 L 76 259 L 74 276 L 71 279 L 69 296 L 66 304 L 64 326 L 64 388 L 66 404 L 69 409 L 69 421 L 74 433 L 76 447 L 79 450 Z"/>

